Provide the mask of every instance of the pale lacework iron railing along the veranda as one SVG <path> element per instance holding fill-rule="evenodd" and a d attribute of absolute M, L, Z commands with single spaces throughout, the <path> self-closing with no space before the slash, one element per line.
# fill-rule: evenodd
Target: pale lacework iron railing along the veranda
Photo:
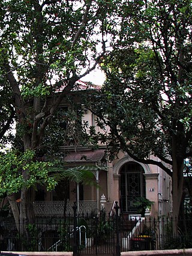
<path fill-rule="evenodd" d="M 73 214 L 73 201 L 67 202 L 66 214 Z M 34 201 L 36 217 L 62 217 L 64 216 L 64 201 Z M 97 213 L 96 201 L 79 201 L 79 213 Z"/>

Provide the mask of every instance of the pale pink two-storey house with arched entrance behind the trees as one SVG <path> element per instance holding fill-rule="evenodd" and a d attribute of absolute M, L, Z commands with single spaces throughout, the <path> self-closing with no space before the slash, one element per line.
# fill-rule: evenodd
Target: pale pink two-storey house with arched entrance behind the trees
<path fill-rule="evenodd" d="M 71 92 L 71 95 L 80 108 L 83 106 L 79 95 L 85 90 L 99 90 L 99 88 L 82 81 L 77 82 L 77 87 Z M 67 108 L 66 105 L 62 104 L 61 107 Z M 82 121 L 98 129 L 95 116 L 88 109 L 83 110 Z M 114 202 L 118 201 L 122 213 L 137 214 L 134 201 L 140 197 L 148 198 L 154 202 L 151 207 L 153 215 L 166 215 L 172 211 L 171 178 L 158 166 L 136 162 L 122 151 L 119 152 L 115 160 L 109 162 L 106 145 L 103 144 L 98 144 L 97 149 L 92 150 L 92 148 L 83 147 L 70 141 L 61 147 L 61 151 L 65 156 L 67 166 L 98 166 L 98 169 L 93 171 L 98 186 L 74 182 L 67 185 L 60 183 L 52 192 L 46 192 L 41 187 L 36 193 L 34 201 L 36 216 L 61 217 L 64 215 L 65 207 L 67 211 L 72 212 L 71 206 L 74 201 L 77 201 L 79 213 L 98 213 L 101 207 L 101 196 L 106 198 L 104 206 L 107 212 L 112 212 Z"/>

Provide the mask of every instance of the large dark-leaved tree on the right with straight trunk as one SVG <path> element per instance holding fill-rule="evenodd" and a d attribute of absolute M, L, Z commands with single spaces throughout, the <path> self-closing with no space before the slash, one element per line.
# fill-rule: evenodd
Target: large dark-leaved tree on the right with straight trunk
<path fill-rule="evenodd" d="M 191 1 L 134 1 L 121 14 L 119 45 L 101 64 L 107 81 L 91 96 L 98 126 L 109 127 L 97 136 L 112 155 L 123 150 L 166 171 L 178 216 L 192 154 Z"/>

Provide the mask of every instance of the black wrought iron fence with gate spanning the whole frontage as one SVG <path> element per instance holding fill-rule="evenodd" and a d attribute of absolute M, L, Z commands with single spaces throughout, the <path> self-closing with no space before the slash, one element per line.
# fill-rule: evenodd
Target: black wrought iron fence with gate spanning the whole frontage
<path fill-rule="evenodd" d="M 1 251 L 73 251 L 77 254 L 120 255 L 121 251 L 174 249 L 192 247 L 192 220 L 171 217 L 130 219 L 113 216 L 73 214 L 66 218 L 38 218 L 28 224 L 28 237 L 14 222 L 2 222 Z"/>

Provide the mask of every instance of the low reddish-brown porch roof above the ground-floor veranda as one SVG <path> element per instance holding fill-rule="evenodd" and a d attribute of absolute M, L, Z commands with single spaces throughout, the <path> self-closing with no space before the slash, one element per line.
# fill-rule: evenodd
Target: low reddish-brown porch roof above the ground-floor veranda
<path fill-rule="evenodd" d="M 79 151 L 71 152 L 65 157 L 66 162 L 98 162 L 103 159 L 105 155 L 104 150 L 89 150 L 89 151 Z"/>

